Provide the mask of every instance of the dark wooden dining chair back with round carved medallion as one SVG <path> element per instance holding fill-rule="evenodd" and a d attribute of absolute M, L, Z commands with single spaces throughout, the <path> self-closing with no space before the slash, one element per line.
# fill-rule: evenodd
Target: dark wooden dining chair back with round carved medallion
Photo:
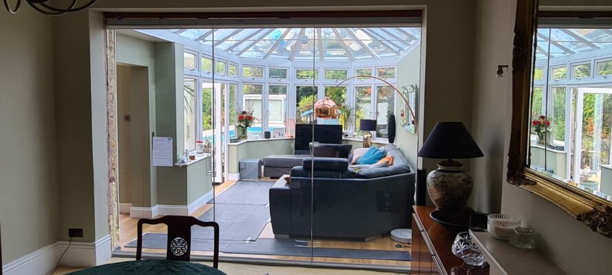
<path fill-rule="evenodd" d="M 143 224 L 164 223 L 168 227 L 166 259 L 174 261 L 189 261 L 191 258 L 191 226 L 212 227 L 214 230 L 213 267 L 219 266 L 219 224 L 214 221 L 200 221 L 191 216 L 164 216 L 158 219 L 138 220 L 138 241 L 136 260 L 143 256 Z"/>

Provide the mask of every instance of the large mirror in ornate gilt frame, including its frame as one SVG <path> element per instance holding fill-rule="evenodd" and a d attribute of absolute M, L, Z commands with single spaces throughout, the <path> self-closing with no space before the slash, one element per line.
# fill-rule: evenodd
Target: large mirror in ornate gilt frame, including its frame
<path fill-rule="evenodd" d="M 612 238 L 612 12 L 517 2 L 507 181 Z"/>

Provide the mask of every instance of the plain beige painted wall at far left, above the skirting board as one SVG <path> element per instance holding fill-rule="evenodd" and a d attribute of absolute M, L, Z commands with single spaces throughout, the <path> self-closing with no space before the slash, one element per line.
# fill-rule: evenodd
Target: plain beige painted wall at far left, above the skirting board
<path fill-rule="evenodd" d="M 52 18 L 0 12 L 3 263 L 55 243 L 59 207 Z M 0 267 L 1 268 L 1 267 Z"/>

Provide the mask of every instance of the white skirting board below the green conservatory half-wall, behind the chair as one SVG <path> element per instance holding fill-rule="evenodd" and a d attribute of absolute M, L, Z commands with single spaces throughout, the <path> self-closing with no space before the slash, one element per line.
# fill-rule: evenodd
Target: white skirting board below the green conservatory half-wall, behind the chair
<path fill-rule="evenodd" d="M 134 207 L 129 208 L 129 217 L 137 219 L 153 219 L 158 215 L 178 215 L 178 216 L 189 216 L 193 212 L 196 212 L 198 208 L 204 206 L 207 202 L 213 199 L 213 190 L 210 190 L 206 194 L 202 195 L 187 206 L 169 206 L 158 204 L 154 207 Z"/>

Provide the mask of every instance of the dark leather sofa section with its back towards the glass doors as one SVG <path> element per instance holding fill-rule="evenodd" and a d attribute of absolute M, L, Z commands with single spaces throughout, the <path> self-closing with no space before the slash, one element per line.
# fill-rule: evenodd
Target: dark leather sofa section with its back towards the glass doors
<path fill-rule="evenodd" d="M 386 168 L 348 168 L 346 157 L 315 157 L 291 170 L 270 189 L 272 230 L 277 238 L 315 237 L 367 240 L 410 224 L 414 169 L 393 144 Z M 313 173 L 314 165 L 314 173 Z M 313 175 L 314 177 L 310 177 Z M 311 214 L 312 213 L 312 214 Z"/>

